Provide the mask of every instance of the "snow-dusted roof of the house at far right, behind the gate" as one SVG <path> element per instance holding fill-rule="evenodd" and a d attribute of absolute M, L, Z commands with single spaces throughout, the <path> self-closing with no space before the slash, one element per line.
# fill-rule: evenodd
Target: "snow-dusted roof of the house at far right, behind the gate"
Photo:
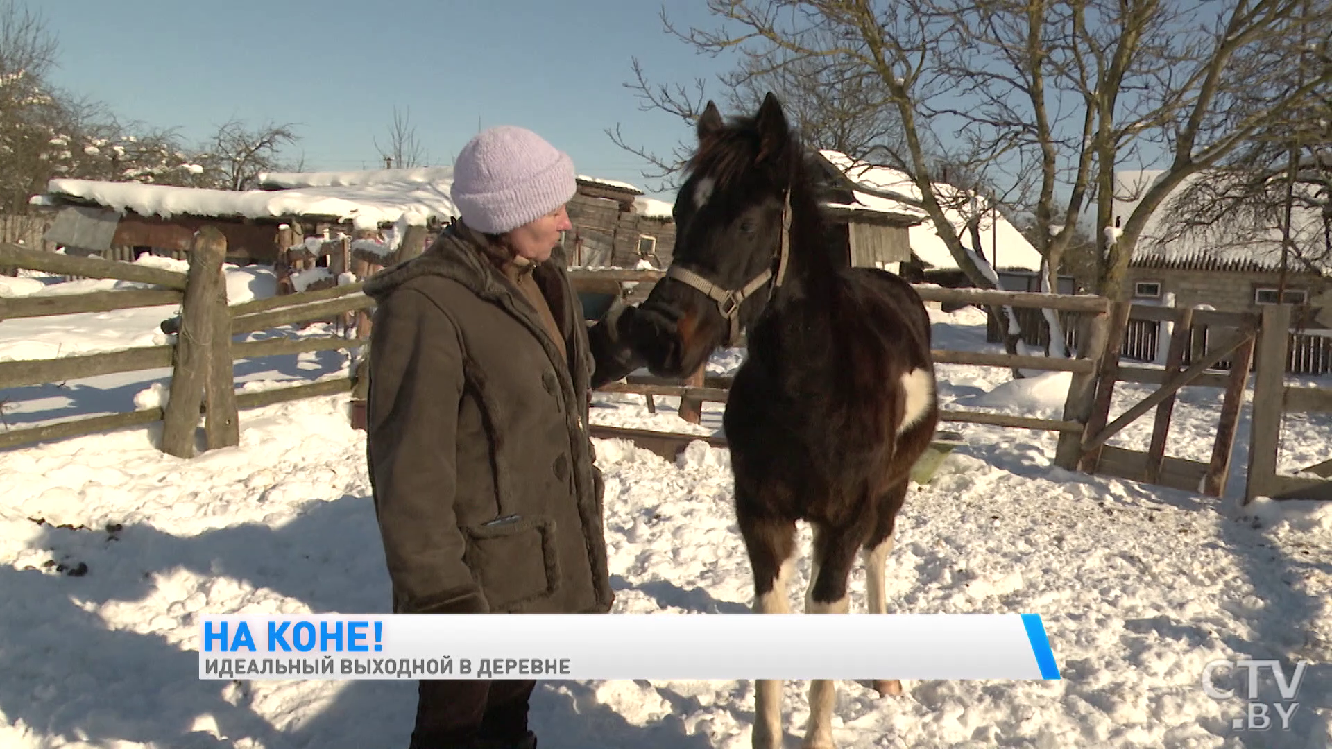
<path fill-rule="evenodd" d="M 1166 172 L 1162 169 L 1123 169 L 1115 172 L 1114 215 L 1122 223 L 1138 208 L 1147 188 Z M 1189 231 L 1179 236 L 1171 228 L 1169 212 L 1177 209 L 1176 201 L 1196 180 L 1216 179 L 1211 172 L 1199 172 L 1185 177 L 1166 201 L 1158 208 L 1138 244 L 1134 247 L 1134 264 L 1147 267 L 1187 267 L 1200 269 L 1233 271 L 1280 271 L 1281 232 L 1276 227 L 1263 231 L 1239 231 L 1236 227 L 1213 225 Z M 1323 273 L 1332 272 L 1332 263 L 1317 252 L 1323 248 L 1323 224 L 1317 211 L 1296 205 L 1291 213 L 1295 245 L 1312 248 L 1313 265 Z M 1291 257 L 1288 268 L 1300 269 L 1304 264 Z"/>

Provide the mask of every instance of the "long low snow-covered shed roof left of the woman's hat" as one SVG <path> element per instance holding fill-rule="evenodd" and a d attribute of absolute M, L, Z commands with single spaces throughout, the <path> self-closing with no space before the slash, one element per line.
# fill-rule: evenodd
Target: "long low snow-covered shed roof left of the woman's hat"
<path fill-rule="evenodd" d="M 92 201 L 125 213 L 170 219 L 177 215 L 206 217 L 281 219 L 296 216 L 334 217 L 372 229 L 384 224 L 424 225 L 430 219 L 448 220 L 458 215 L 449 197 L 452 169 L 378 169 L 370 172 L 310 172 L 265 175 L 268 184 L 286 183 L 292 189 L 245 192 L 104 183 L 95 180 L 51 180 L 47 196 Z M 304 184 L 302 184 L 304 183 Z M 296 187 L 300 185 L 300 187 Z M 306 187 L 309 185 L 309 187 Z"/>

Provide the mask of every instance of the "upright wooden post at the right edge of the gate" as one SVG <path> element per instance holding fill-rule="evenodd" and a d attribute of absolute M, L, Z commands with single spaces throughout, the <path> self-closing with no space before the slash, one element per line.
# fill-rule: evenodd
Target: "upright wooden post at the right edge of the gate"
<path fill-rule="evenodd" d="M 1285 401 L 1285 348 L 1291 333 L 1289 305 L 1264 305 L 1253 374 L 1253 417 L 1249 420 L 1249 465 L 1244 504 L 1275 488 L 1276 449 L 1281 440 Z"/>

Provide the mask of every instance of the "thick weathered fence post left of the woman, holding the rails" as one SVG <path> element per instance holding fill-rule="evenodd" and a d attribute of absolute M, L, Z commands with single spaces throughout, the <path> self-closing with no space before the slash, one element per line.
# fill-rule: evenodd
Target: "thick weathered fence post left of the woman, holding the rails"
<path fill-rule="evenodd" d="M 176 335 L 170 400 L 163 414 L 161 449 L 176 457 L 194 457 L 194 432 L 198 426 L 204 389 L 216 390 L 216 377 L 212 373 L 209 359 L 217 331 L 226 331 L 225 337 L 228 349 L 230 349 L 230 319 L 214 320 L 216 316 L 225 312 L 225 308 L 218 308 L 217 304 L 217 287 L 222 284 L 225 256 L 226 237 L 220 231 L 204 227 L 194 235 L 189 252 L 185 301 L 181 304 L 180 332 Z M 225 291 L 221 293 L 225 299 Z M 226 369 L 230 369 L 230 359 L 226 360 Z M 229 380 L 226 386 L 232 388 Z M 214 398 L 221 400 L 222 396 L 214 393 Z M 234 404 L 234 394 L 232 402 Z M 214 406 L 225 409 L 221 402 L 214 401 Z M 236 417 L 232 416 L 233 426 L 234 421 Z M 209 442 L 213 440 L 225 441 L 225 434 L 226 429 L 218 421 L 209 434 Z"/>

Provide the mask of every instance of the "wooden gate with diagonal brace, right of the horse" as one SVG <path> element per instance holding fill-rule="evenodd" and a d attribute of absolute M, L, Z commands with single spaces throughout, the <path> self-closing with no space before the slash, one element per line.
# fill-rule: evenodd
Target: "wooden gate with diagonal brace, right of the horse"
<path fill-rule="evenodd" d="M 1175 323 L 1164 369 L 1120 364 L 1124 332 L 1131 319 Z M 1205 351 L 1192 352 L 1189 356 L 1193 324 L 1207 325 L 1211 335 Z M 1100 360 L 1096 401 L 1087 421 L 1079 468 L 1088 473 L 1106 473 L 1187 492 L 1201 492 L 1213 497 L 1221 496 L 1225 492 L 1227 476 L 1229 474 L 1240 404 L 1244 400 L 1244 385 L 1253 361 L 1259 324 L 1259 316 L 1248 312 L 1212 312 L 1116 303 L 1111 311 L 1107 347 Z M 1285 328 L 1280 328 L 1279 344 L 1285 344 Z M 1271 341 L 1264 340 L 1265 348 L 1259 356 L 1259 371 L 1275 371 L 1276 376 L 1280 377 L 1285 357 L 1284 355 L 1275 359 L 1268 357 L 1267 348 L 1272 345 Z M 1191 364 L 1185 369 L 1187 360 L 1191 360 Z M 1229 372 L 1227 374 L 1209 374 L 1208 369 L 1217 368 L 1223 360 L 1229 360 Z M 1267 361 L 1277 364 L 1273 368 L 1265 365 Z M 1116 381 L 1155 382 L 1160 384 L 1160 388 L 1107 424 Z M 1225 388 L 1220 422 L 1212 444 L 1212 457 L 1208 462 L 1166 454 L 1166 437 L 1169 433 L 1175 393 L 1184 385 L 1195 384 Z M 1152 426 L 1151 444 L 1146 452 L 1106 444 L 1124 426 L 1152 409 L 1156 409 L 1156 420 Z"/>

